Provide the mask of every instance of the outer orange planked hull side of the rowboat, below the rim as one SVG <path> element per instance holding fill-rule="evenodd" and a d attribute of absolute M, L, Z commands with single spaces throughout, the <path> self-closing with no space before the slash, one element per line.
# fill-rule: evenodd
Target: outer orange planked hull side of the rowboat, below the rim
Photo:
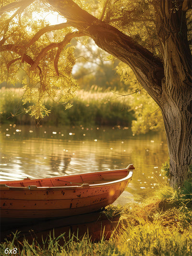
<path fill-rule="evenodd" d="M 112 204 L 125 190 L 130 177 L 112 183 L 68 187 L 1 187 L 3 218 L 57 218 L 93 212 Z M 83 177 L 83 174 L 82 174 Z"/>

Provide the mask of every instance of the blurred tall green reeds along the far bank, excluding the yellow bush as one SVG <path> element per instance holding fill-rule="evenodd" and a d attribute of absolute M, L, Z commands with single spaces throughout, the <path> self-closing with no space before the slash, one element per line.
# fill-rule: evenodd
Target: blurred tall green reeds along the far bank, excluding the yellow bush
<path fill-rule="evenodd" d="M 0 89 L 0 122 L 15 122 L 17 124 L 31 124 L 34 119 L 25 110 L 22 91 L 18 88 Z M 116 98 L 111 92 L 79 90 L 75 98 L 70 101 L 72 108 L 64 110 L 65 105 L 46 101 L 46 108 L 51 110 L 42 123 L 48 125 L 124 125 L 130 126 L 133 120 L 131 102 Z"/>

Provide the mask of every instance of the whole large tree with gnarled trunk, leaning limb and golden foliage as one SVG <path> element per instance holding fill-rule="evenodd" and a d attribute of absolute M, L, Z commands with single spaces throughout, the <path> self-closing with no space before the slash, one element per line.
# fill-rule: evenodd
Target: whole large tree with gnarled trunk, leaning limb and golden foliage
<path fill-rule="evenodd" d="M 24 15 L 27 10 L 32 16 L 35 11 L 52 10 L 66 22 L 46 25 L 44 19 L 29 19 Z M 24 97 L 32 102 L 31 115 L 46 114 L 42 99 L 47 96 L 62 102 L 73 96 L 77 87 L 72 78 L 75 59 L 68 44 L 73 37 L 91 37 L 99 48 L 132 69 L 159 106 L 168 141 L 171 184 L 189 177 L 191 0 L 7 0 L 0 13 L 1 68 L 7 68 L 1 79 L 14 80 L 18 68 L 24 70 Z"/>

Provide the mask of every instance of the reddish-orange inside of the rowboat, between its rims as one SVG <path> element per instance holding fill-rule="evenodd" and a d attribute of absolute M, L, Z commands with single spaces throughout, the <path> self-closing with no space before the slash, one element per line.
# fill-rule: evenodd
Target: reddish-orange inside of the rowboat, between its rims
<path fill-rule="evenodd" d="M 125 178 L 129 174 L 127 169 L 98 171 L 83 174 L 65 175 L 60 177 L 48 177 L 42 179 L 25 178 L 20 181 L 1 181 L 10 187 L 63 187 L 63 186 L 82 186 L 85 184 L 102 184 Z"/>

